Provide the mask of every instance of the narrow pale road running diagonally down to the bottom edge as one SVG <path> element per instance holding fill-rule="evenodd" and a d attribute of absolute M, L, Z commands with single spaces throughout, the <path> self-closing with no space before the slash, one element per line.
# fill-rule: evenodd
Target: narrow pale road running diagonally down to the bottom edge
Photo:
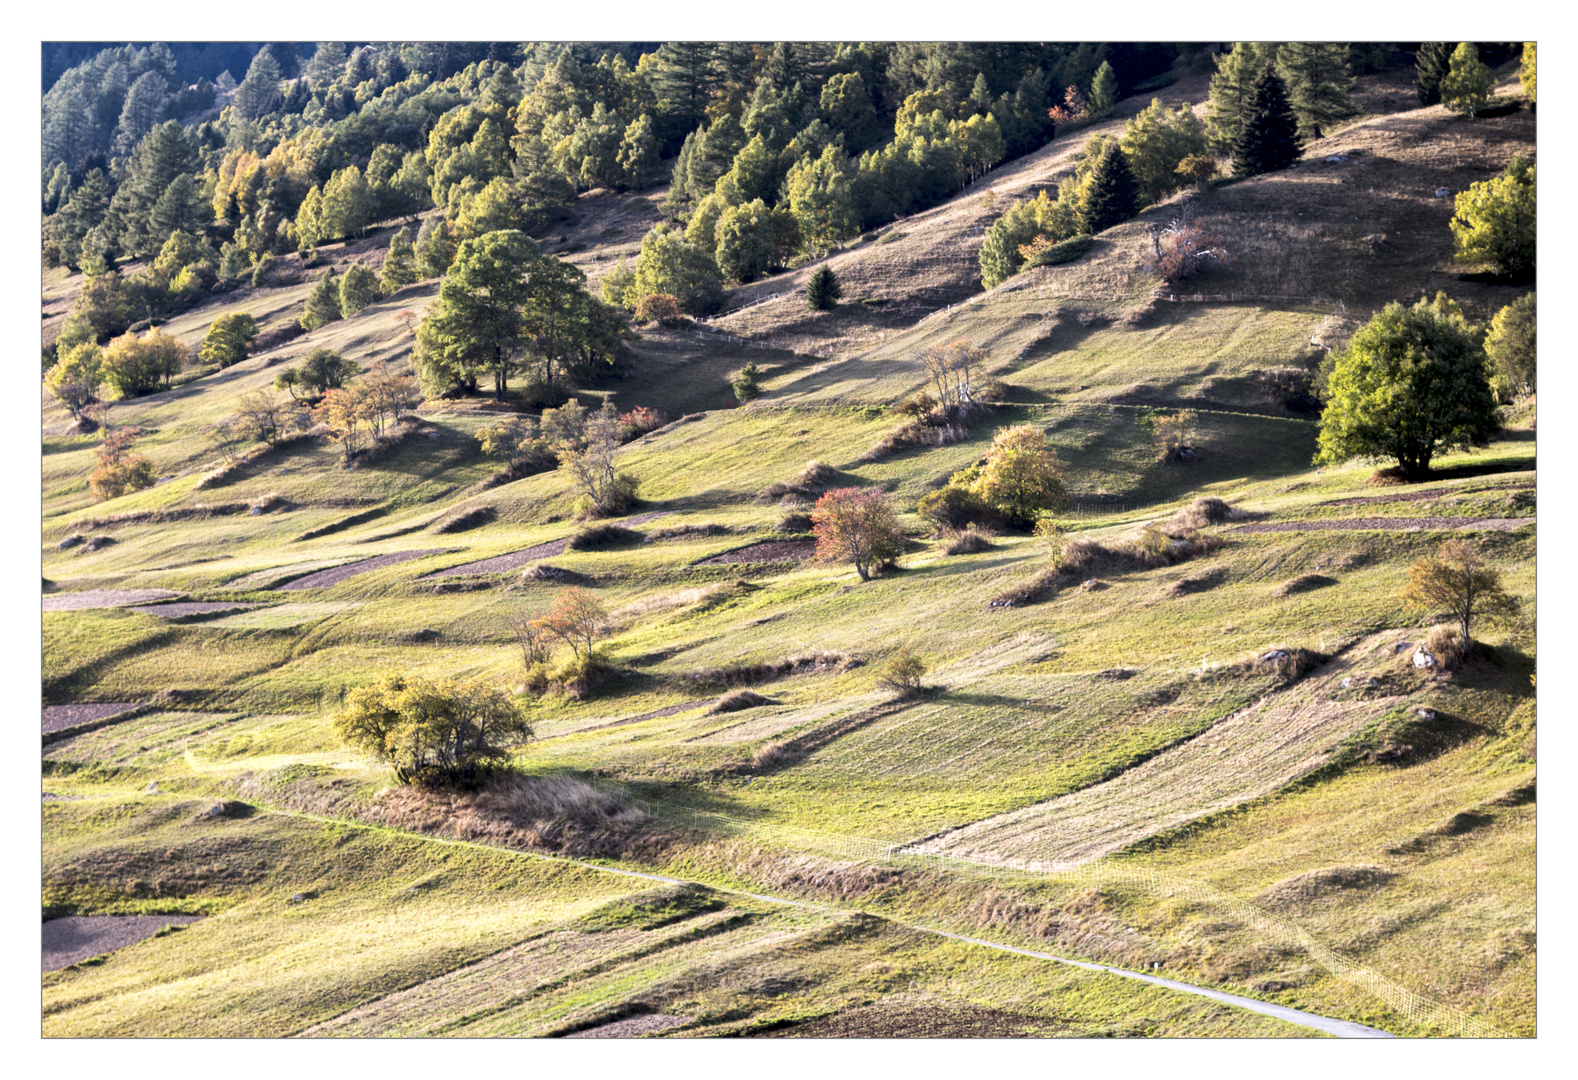
<path fill-rule="evenodd" d="M 271 807 L 262 807 L 262 810 L 264 810 L 264 813 L 273 813 L 273 815 L 278 815 L 278 816 L 282 816 L 282 818 L 301 818 L 301 819 L 306 819 L 306 821 L 319 821 L 319 823 L 323 823 L 323 824 L 335 824 L 335 826 L 342 826 L 342 827 L 388 831 L 383 826 L 369 826 L 369 824 L 363 824 L 360 821 L 344 821 L 344 819 L 339 819 L 339 818 L 325 818 L 325 816 L 319 816 L 319 815 L 312 815 L 312 813 L 298 813 L 295 810 L 275 810 Z M 521 859 L 537 859 L 537 861 L 541 861 L 541 862 L 568 864 L 568 865 L 582 867 L 585 870 L 595 870 L 598 873 L 614 873 L 614 875 L 619 875 L 619 876 L 623 876 L 623 878 L 641 878 L 644 881 L 658 881 L 661 884 L 694 884 L 694 886 L 702 886 L 705 889 L 712 889 L 715 892 L 723 892 L 723 894 L 735 895 L 735 897 L 748 897 L 751 900 L 761 900 L 764 903 L 775 903 L 775 905 L 789 906 L 789 908 L 805 908 L 805 909 L 810 909 L 810 911 L 832 911 L 832 913 L 838 913 L 838 914 L 849 914 L 851 911 L 858 911 L 858 908 L 854 908 L 854 909 L 852 908 L 835 908 L 835 906 L 830 906 L 830 905 L 806 903 L 805 900 L 791 900 L 787 897 L 775 897 L 775 895 L 768 895 L 768 894 L 762 894 L 762 892 L 746 892 L 743 889 L 731 889 L 731 887 L 726 887 L 726 886 L 718 886 L 718 884 L 712 884 L 712 883 L 705 883 L 705 881 L 688 881 L 685 878 L 669 878 L 669 876 L 660 875 L 660 873 L 645 873 L 645 872 L 641 872 L 641 870 L 623 870 L 620 867 L 608 867 L 608 865 L 600 865 L 600 864 L 595 864 L 595 862 L 581 862 L 579 859 L 570 859 L 570 857 L 565 857 L 565 856 L 540 854 L 537 851 L 516 851 L 513 848 L 495 848 L 492 845 L 475 843 L 475 842 L 470 842 L 470 840 L 443 840 L 440 837 L 428 837 L 428 835 L 423 835 L 420 832 L 404 832 L 404 831 L 401 831 L 401 835 L 409 837 L 412 840 L 423 840 L 426 843 L 442 843 L 442 845 L 450 845 L 450 846 L 458 846 L 458 848 L 480 848 L 483 851 L 492 851 L 492 853 L 499 853 L 499 854 L 518 856 Z M 874 914 L 874 913 L 862 913 L 862 914 Z M 1221 990 L 1209 990 L 1206 987 L 1196 987 L 1196 985 L 1193 985 L 1190 982 L 1179 982 L 1177 979 L 1163 979 L 1160 976 L 1141 974 L 1138 971 L 1128 971 L 1125 968 L 1112 968 L 1112 966 L 1101 965 L 1101 963 L 1089 963 L 1086 960 L 1070 960 L 1067 957 L 1057 957 L 1057 955 L 1053 955 L 1049 952 L 1030 952 L 1029 949 L 1018 949 L 1015 946 L 1000 944 L 1000 943 L 996 943 L 996 941 L 985 941 L 982 938 L 966 938 L 963 935 L 948 933 L 947 930 L 936 930 L 933 927 L 920 927 L 920 925 L 912 925 L 912 924 L 906 924 L 906 922 L 898 922 L 898 921 L 888 919 L 887 916 L 874 916 L 874 917 L 885 919 L 887 922 L 893 922 L 893 925 L 904 927 L 906 930 L 915 930 L 917 933 L 934 933 L 934 935 L 939 935 L 942 938 L 952 938 L 955 941 L 963 941 L 966 944 L 982 946 L 985 949 L 996 949 L 999 952 L 1015 952 L 1015 954 L 1026 955 L 1026 957 L 1035 957 L 1037 960 L 1051 960 L 1053 963 L 1067 963 L 1067 965 L 1071 965 L 1071 966 L 1076 966 L 1076 968 L 1086 968 L 1087 971 L 1105 971 L 1105 973 L 1109 973 L 1109 974 L 1122 976 L 1125 979 L 1138 979 L 1139 982 L 1149 982 L 1152 985 L 1166 987 L 1168 990 L 1177 990 L 1180 993 L 1199 995 L 1202 998 L 1210 998 L 1212 1001 L 1220 1001 L 1221 1004 L 1234 1006 L 1234 1007 L 1239 1007 L 1239 1009 L 1248 1009 L 1250 1012 L 1259 1012 L 1259 1014 L 1269 1015 L 1269 1017 L 1277 1017 L 1278 1020 L 1286 1020 L 1288 1023 L 1296 1023 L 1296 1025 L 1300 1025 L 1300 1026 L 1305 1026 L 1305 1028 L 1314 1028 L 1316 1031 L 1324 1031 L 1326 1034 L 1337 1036 L 1338 1039 L 1392 1039 L 1392 1037 L 1395 1037 L 1395 1036 L 1392 1036 L 1387 1031 L 1381 1031 L 1379 1028 L 1367 1028 L 1365 1025 L 1354 1023 L 1352 1020 L 1337 1020 L 1333 1017 L 1322 1017 L 1322 1015 L 1318 1015 L 1314 1012 L 1303 1012 L 1300 1009 L 1289 1009 L 1286 1006 L 1277 1006 L 1277 1004 L 1270 1004 L 1270 1003 L 1266 1003 L 1266 1001 L 1256 1001 L 1255 998 L 1243 998 L 1243 996 L 1239 996 L 1236 993 L 1225 993 Z M 358 1009 L 365 1009 L 369 1004 L 372 1004 L 372 1003 L 361 1003 L 357 1007 Z M 333 1023 L 333 1020 L 325 1022 L 323 1025 L 317 1025 L 317 1026 L 327 1026 L 328 1023 Z"/>

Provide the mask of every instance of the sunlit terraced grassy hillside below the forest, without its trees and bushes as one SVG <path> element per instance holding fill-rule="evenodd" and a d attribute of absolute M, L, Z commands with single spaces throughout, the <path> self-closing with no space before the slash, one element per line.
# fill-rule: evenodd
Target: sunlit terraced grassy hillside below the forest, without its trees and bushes
<path fill-rule="evenodd" d="M 619 545 L 557 545 L 582 527 L 562 471 L 489 483 L 499 463 L 475 431 L 497 411 L 481 401 L 424 404 L 409 437 L 355 469 L 308 439 L 215 475 L 204 426 L 279 365 L 328 346 L 407 369 L 412 338 L 391 316 L 421 311 L 431 281 L 112 404 L 161 475 L 120 499 L 93 501 L 99 436 L 71 434 L 46 395 L 46 595 L 167 589 L 237 605 L 170 616 L 106 592 L 43 614 L 47 706 L 148 704 L 46 736 L 46 916 L 207 916 L 46 973 L 46 1031 L 567 1034 L 679 1017 L 649 1022 L 672 1036 L 1307 1034 L 926 925 L 1444 1033 L 1245 909 L 1135 884 L 1187 879 L 1461 1015 L 1534 1034 L 1534 433 L 1449 455 L 1427 483 L 1376 485 L 1371 464 L 1314 469 L 1314 417 L 1262 376 L 1308 368 L 1390 298 L 1445 287 L 1483 319 L 1513 295 L 1450 270 L 1450 201 L 1433 193 L 1532 152 L 1532 115 L 1411 109 L 1397 79 L 1367 76 L 1370 114 L 1297 169 L 1202 199 L 1236 262 L 1199 289 L 1288 300 L 1154 300 L 1139 248 L 1169 205 L 1108 231 L 1081 262 L 980 292 L 983 226 L 1146 104 L 1130 99 L 1105 126 L 833 254 L 846 289 L 833 313 L 791 295 L 715 321 L 727 335 L 644 332 L 628 377 L 581 392 L 677 420 L 617 455 L 641 480 L 626 524 L 642 534 Z M 1163 92 L 1202 96 L 1201 79 Z M 660 196 L 584 196 L 549 246 L 595 276 L 634 251 Z M 1376 232 L 1387 238 L 1362 240 Z M 376 264 L 387 234 L 327 254 Z M 808 270 L 734 302 L 798 287 Z M 46 278 L 46 336 L 73 287 Z M 194 343 L 227 311 L 282 324 L 308 287 L 226 294 L 167 330 Z M 958 306 L 933 314 L 944 305 Z M 958 338 L 988 349 L 1007 403 L 964 441 L 873 453 L 903 420 L 892 406 L 925 388 L 917 354 Z M 735 407 L 729 377 L 751 360 L 767 393 Z M 1199 459 L 1161 464 L 1147 417 L 1179 406 L 1199 414 Z M 1013 425 L 1056 447 L 1078 537 L 1124 540 L 1199 496 L 1239 513 L 1202 529 L 1220 546 L 1199 557 L 1111 562 L 1037 603 L 993 606 L 1048 567 L 1046 545 L 1005 534 L 948 556 L 914 510 Z M 860 581 L 800 557 L 803 526 L 770 488 L 810 461 L 839 486 L 893 494 L 911 534 L 895 570 Z M 491 515 L 442 531 L 475 508 Z M 1398 644 L 1434 613 L 1398 595 L 1409 565 L 1455 537 L 1526 603 L 1477 632 L 1483 658 L 1434 676 Z M 732 554 L 757 543 L 778 546 L 767 561 Z M 470 567 L 544 545 L 510 568 Z M 527 573 L 544 565 L 559 576 Z M 331 568 L 344 575 L 306 576 Z M 612 674 L 581 698 L 527 693 L 511 621 L 567 579 L 611 613 Z M 281 587 L 292 581 L 305 587 Z M 901 646 L 928 665 L 914 699 L 879 684 Z M 1259 660 L 1272 651 L 1303 663 Z M 525 778 L 406 789 L 346 750 L 333 733 L 346 693 L 390 669 L 514 688 L 537 734 L 511 755 Z M 743 684 L 765 703 L 713 712 Z M 887 854 L 838 854 L 855 849 L 846 837 Z M 1059 876 L 1068 864 L 1130 876 Z"/>

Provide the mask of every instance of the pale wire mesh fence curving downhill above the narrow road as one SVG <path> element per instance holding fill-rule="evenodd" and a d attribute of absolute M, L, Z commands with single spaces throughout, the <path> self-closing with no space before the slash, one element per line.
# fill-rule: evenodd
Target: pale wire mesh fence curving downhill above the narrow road
<path fill-rule="evenodd" d="M 1212 906 L 1277 941 L 1303 951 L 1327 973 L 1362 988 L 1384 1001 L 1387 1007 L 1406 1017 L 1411 1023 L 1434 1028 L 1447 1034 L 1469 1039 L 1504 1039 L 1505 1033 L 1494 1025 L 1472 1017 L 1453 1006 L 1431 1001 L 1385 976 L 1365 968 L 1327 947 L 1303 927 L 1275 916 L 1247 900 L 1229 895 L 1215 886 L 1190 878 L 1179 878 L 1149 867 L 1130 867 L 1097 859 L 1094 862 L 982 862 L 936 851 L 918 851 L 906 843 L 854 837 L 798 826 L 781 826 L 762 821 L 743 821 L 713 810 L 701 810 L 682 804 L 641 799 L 609 782 L 595 786 L 614 801 L 638 808 L 652 818 L 688 824 L 699 832 L 724 832 L 767 840 L 784 848 L 816 851 L 858 862 L 892 864 L 909 868 L 963 873 L 975 878 L 1000 879 L 1026 876 L 1053 878 L 1087 887 L 1124 886 L 1141 889 L 1155 897 L 1180 897 Z"/>

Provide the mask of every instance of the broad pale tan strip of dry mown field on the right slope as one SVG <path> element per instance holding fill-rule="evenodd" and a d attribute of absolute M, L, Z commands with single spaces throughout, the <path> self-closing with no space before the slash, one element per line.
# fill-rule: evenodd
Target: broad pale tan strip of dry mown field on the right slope
<path fill-rule="evenodd" d="M 912 849 L 1049 870 L 1269 794 L 1326 764 L 1340 739 L 1406 699 L 1330 698 L 1344 676 L 1389 663 L 1403 635 L 1370 635 L 1296 687 L 1105 783 L 961 826 Z"/>

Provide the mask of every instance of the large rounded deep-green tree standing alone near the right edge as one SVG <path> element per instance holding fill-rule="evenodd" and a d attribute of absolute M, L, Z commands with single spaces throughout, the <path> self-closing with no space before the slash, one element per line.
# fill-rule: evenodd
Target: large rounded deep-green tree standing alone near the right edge
<path fill-rule="evenodd" d="M 1479 333 L 1445 294 L 1389 303 L 1335 354 L 1316 461 L 1395 461 L 1409 480 L 1499 429 Z"/>

